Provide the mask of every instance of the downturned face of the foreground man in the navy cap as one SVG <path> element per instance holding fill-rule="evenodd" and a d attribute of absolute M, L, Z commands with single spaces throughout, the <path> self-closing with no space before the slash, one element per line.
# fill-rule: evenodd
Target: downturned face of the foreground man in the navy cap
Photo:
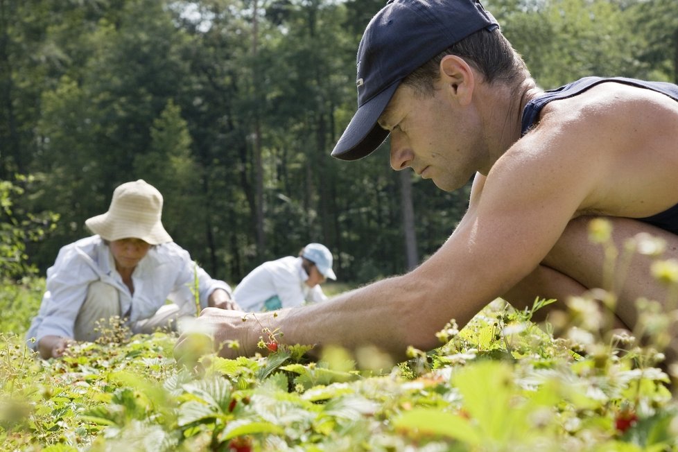
<path fill-rule="evenodd" d="M 466 184 L 482 155 L 473 141 L 475 110 L 455 103 L 448 89 L 437 86 L 433 96 L 423 96 L 401 84 L 378 121 L 390 131 L 391 167 L 411 167 L 444 191 Z"/>

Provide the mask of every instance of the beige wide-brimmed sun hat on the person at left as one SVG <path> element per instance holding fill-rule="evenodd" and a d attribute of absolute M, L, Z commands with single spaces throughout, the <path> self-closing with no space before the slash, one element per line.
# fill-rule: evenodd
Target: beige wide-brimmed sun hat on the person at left
<path fill-rule="evenodd" d="M 108 211 L 87 219 L 85 225 L 108 241 L 141 238 L 151 245 L 158 245 L 172 241 L 160 222 L 161 214 L 162 194 L 139 179 L 118 186 Z"/>

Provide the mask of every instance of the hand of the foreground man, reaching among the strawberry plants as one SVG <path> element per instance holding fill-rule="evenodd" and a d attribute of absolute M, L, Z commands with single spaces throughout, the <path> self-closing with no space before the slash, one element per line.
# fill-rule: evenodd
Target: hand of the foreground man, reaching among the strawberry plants
<path fill-rule="evenodd" d="M 175 359 L 192 365 L 211 351 L 218 351 L 224 358 L 254 354 L 261 327 L 252 314 L 245 315 L 242 311 L 223 308 L 203 309 L 200 316 L 182 331 L 174 347 Z"/>

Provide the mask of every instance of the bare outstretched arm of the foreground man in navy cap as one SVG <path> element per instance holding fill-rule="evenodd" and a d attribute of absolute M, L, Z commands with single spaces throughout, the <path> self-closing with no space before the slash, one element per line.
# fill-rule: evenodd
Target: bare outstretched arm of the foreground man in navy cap
<path fill-rule="evenodd" d="M 336 343 L 354 349 L 374 344 L 401 358 L 408 345 L 431 349 L 435 332 L 451 319 L 466 324 L 546 257 L 571 218 L 596 208 L 609 137 L 586 121 L 567 134 L 547 125 L 507 151 L 483 181 L 459 227 L 417 269 L 257 320 L 206 310 L 216 340 L 237 339 L 252 354 L 262 327 L 279 329 L 281 342 Z M 597 159 L 585 159 L 591 149 Z M 593 201 L 592 201 L 593 200 Z"/>

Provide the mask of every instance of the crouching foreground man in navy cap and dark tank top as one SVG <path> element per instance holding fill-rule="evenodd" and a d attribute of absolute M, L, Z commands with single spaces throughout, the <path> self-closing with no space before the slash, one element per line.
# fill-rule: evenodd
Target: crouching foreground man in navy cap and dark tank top
<path fill-rule="evenodd" d="M 523 308 L 614 288 L 614 326 L 629 329 L 638 298 L 667 299 L 641 254 L 606 280 L 589 220 L 609 220 L 619 248 L 651 234 L 666 243 L 663 258 L 678 258 L 676 85 L 589 77 L 545 92 L 476 0 L 388 1 L 357 63 L 358 110 L 333 157 L 360 159 L 390 136 L 396 171 L 412 168 L 444 191 L 473 177 L 469 209 L 415 270 L 258 319 L 282 341 L 370 344 L 404 358 L 410 345 L 437 347 L 446 322 L 463 327 L 496 297 Z M 261 336 L 237 313 L 207 309 L 198 322 L 217 347 L 243 345 L 222 348 L 225 356 L 254 352 Z M 675 324 L 669 332 L 670 360 Z"/>

